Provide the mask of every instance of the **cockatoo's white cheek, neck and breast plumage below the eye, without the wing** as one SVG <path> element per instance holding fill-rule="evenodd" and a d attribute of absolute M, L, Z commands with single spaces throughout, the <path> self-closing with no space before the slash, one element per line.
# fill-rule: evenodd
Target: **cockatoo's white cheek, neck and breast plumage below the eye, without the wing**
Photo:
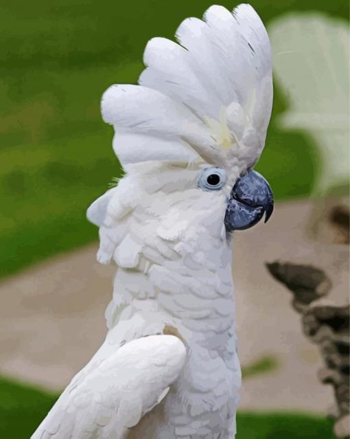
<path fill-rule="evenodd" d="M 136 438 L 171 439 L 170 431 L 180 429 L 211 438 L 207 419 L 225 427 L 228 411 L 238 403 L 232 250 L 224 226 L 230 188 L 201 190 L 201 171 L 200 166 L 179 170 L 161 164 L 142 174 L 129 169 L 108 204 L 108 227 L 100 229 L 101 244 L 119 236 L 107 339 L 124 344 L 168 331 L 190 352 L 174 393 L 162 405 L 172 425 L 158 426 L 150 436 L 140 430 Z M 135 207 L 119 218 L 121 200 Z M 146 418 L 142 432 L 152 426 Z M 156 436 L 162 431 L 170 436 Z"/>

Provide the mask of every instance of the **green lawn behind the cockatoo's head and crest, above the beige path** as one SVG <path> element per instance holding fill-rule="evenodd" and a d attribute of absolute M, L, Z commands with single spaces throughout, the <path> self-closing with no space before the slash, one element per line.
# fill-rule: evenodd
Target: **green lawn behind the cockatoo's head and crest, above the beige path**
<path fill-rule="evenodd" d="M 86 208 L 121 167 L 100 96 L 137 82 L 148 38 L 173 38 L 211 0 L 14 0 L 0 5 L 0 276 L 97 238 Z M 220 1 L 232 8 L 234 1 Z M 317 3 L 347 17 L 347 2 Z M 253 1 L 261 17 L 314 10 L 313 0 Z M 278 92 L 274 114 L 286 103 Z M 303 133 L 273 122 L 259 166 L 277 199 L 310 194 L 317 156 Z"/>

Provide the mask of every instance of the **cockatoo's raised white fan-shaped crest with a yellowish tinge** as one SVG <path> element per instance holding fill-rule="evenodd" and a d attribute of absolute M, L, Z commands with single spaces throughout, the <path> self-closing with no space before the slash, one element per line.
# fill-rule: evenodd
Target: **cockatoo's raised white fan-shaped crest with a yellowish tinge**
<path fill-rule="evenodd" d="M 272 58 L 264 25 L 250 5 L 221 6 L 186 19 L 178 43 L 152 39 L 137 85 L 112 86 L 102 115 L 115 126 L 121 164 L 205 161 L 253 166 L 272 107 Z"/>

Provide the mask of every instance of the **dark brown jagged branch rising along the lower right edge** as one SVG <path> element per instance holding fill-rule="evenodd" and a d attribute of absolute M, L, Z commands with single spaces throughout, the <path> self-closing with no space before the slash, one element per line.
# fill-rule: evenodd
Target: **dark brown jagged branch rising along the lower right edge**
<path fill-rule="evenodd" d="M 268 271 L 292 293 L 292 305 L 301 313 L 303 331 L 318 344 L 325 361 L 319 378 L 334 387 L 334 431 L 349 438 L 349 304 L 336 306 L 320 301 L 331 291 L 331 282 L 320 269 L 289 262 L 266 264 Z"/>

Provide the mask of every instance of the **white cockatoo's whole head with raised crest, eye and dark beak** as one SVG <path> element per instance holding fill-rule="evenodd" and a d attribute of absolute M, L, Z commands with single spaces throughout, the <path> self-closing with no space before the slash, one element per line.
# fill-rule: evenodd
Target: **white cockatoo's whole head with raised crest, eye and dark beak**
<path fill-rule="evenodd" d="M 104 93 L 102 115 L 126 177 L 88 217 L 112 227 L 132 210 L 139 227 L 152 223 L 149 236 L 199 238 L 196 227 L 229 236 L 273 209 L 270 186 L 253 170 L 272 108 L 270 43 L 244 4 L 232 13 L 212 6 L 203 21 L 183 21 L 176 38 L 148 42 L 139 85 Z"/>

